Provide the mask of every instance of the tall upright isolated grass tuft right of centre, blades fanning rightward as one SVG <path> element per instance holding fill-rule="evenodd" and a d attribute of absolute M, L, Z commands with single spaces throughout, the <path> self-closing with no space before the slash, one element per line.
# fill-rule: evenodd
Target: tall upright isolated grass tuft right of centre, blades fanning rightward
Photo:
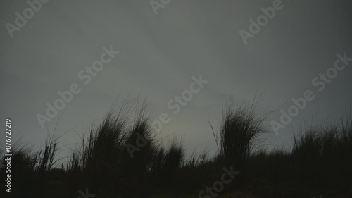
<path fill-rule="evenodd" d="M 256 117 L 254 110 L 256 99 L 251 105 L 238 104 L 233 100 L 223 111 L 220 128 L 220 160 L 226 166 L 234 166 L 238 170 L 244 168 L 256 138 L 265 133 L 264 116 Z"/>

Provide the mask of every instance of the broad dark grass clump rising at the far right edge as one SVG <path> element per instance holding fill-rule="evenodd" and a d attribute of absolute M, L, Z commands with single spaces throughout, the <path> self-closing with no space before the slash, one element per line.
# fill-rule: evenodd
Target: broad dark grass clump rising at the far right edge
<path fill-rule="evenodd" d="M 345 117 L 337 124 L 314 125 L 301 136 L 294 136 L 296 175 L 308 178 L 304 180 L 313 186 L 328 185 L 331 180 L 347 182 L 352 173 L 346 166 L 352 164 L 351 132 L 351 117 Z"/>

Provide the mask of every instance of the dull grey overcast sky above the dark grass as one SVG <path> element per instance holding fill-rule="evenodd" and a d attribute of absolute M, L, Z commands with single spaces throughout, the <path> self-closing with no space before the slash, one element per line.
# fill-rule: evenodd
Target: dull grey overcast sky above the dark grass
<path fill-rule="evenodd" d="M 311 120 L 313 113 L 330 121 L 351 107 L 352 62 L 322 92 L 312 85 L 313 78 L 334 66 L 338 53 L 352 57 L 351 2 L 282 0 L 283 8 L 244 44 L 239 31 L 249 32 L 249 19 L 257 20 L 263 14 L 260 8 L 273 2 L 171 0 L 156 15 L 149 0 L 51 0 L 11 37 L 6 23 L 15 25 L 15 13 L 23 16 L 30 6 L 1 1 L 2 125 L 11 118 L 13 138 L 43 144 L 46 129 L 37 114 L 45 115 L 46 103 L 54 104 L 60 99 L 57 92 L 77 83 L 81 92 L 59 111 L 59 133 L 89 128 L 119 94 L 120 99 L 139 94 L 151 101 L 156 119 L 161 113 L 170 116 L 161 135 L 176 132 L 189 151 L 214 151 L 208 121 L 218 128 L 231 96 L 251 101 L 262 93 L 260 113 L 287 111 L 292 98 L 312 90 L 315 99 L 278 135 L 268 135 L 270 147 L 287 147 L 292 129 Z M 120 53 L 84 85 L 78 73 L 110 46 Z M 179 113 L 172 113 L 168 101 L 189 89 L 192 76 L 199 75 L 208 84 Z M 280 115 L 272 113 L 268 125 Z M 45 125 L 53 129 L 58 117 Z M 63 144 L 78 140 L 75 132 L 62 138 Z"/>

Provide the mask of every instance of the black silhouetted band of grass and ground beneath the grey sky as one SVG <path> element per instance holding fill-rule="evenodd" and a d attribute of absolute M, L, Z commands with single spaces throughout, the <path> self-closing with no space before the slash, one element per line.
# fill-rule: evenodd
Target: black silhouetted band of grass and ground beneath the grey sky
<path fill-rule="evenodd" d="M 65 162 L 56 157 L 60 147 L 54 134 L 39 152 L 17 144 L 11 194 L 1 190 L 0 195 L 75 198 L 88 190 L 96 198 L 209 198 L 214 194 L 199 192 L 220 181 L 223 168 L 232 167 L 239 174 L 217 197 L 352 197 L 351 116 L 335 125 L 300 130 L 288 151 L 265 151 L 258 150 L 266 133 L 265 116 L 256 116 L 254 107 L 230 102 L 220 129 L 213 129 L 218 152 L 209 156 L 187 155 L 176 137 L 163 144 L 151 127 L 146 104 L 125 102 L 82 135 L 80 147 Z"/>

